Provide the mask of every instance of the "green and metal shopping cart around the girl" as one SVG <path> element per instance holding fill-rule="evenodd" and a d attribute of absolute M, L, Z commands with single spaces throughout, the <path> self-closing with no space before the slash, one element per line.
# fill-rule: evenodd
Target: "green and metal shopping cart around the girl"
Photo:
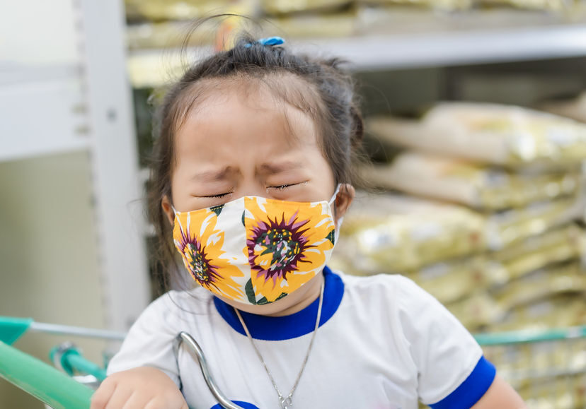
<path fill-rule="evenodd" d="M 124 334 L 0 317 L 0 377 L 54 409 L 89 408 L 91 386 L 97 386 L 104 379 L 105 369 L 85 360 L 67 343 L 51 353 L 52 362 L 61 370 L 11 347 L 10 344 L 26 331 L 112 340 L 120 340 Z M 519 391 L 530 409 L 586 408 L 586 326 L 479 334 L 476 340 L 488 360 L 498 367 L 500 376 Z M 182 342 L 193 352 L 220 405 L 239 409 L 218 390 L 197 342 L 187 333 L 178 334 L 177 341 L 178 345 Z M 84 377 L 76 377 L 79 374 Z M 86 381 L 88 378 L 90 382 Z"/>

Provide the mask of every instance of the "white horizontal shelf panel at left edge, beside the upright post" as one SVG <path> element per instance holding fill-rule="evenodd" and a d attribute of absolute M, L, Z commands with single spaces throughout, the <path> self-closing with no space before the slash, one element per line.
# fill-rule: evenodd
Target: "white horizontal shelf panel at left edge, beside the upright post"
<path fill-rule="evenodd" d="M 78 66 L 4 66 L 0 72 L 0 161 L 88 148 Z"/>

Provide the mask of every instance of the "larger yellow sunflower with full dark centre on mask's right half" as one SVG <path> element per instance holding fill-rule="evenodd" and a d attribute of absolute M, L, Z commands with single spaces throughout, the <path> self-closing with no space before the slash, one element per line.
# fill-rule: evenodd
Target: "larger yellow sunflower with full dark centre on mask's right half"
<path fill-rule="evenodd" d="M 334 221 L 324 203 L 246 198 L 244 227 L 255 297 L 274 302 L 313 278 L 334 246 Z M 247 290 L 248 292 L 248 290 Z M 250 299 L 250 296 L 249 296 Z"/>

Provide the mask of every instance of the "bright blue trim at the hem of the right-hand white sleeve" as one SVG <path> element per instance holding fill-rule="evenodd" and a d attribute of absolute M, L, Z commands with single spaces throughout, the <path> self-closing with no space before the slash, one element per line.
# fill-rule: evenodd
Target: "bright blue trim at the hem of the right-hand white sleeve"
<path fill-rule="evenodd" d="M 432 409 L 469 409 L 488 391 L 495 376 L 494 365 L 481 357 L 469 377 L 455 391 L 430 406 Z"/>

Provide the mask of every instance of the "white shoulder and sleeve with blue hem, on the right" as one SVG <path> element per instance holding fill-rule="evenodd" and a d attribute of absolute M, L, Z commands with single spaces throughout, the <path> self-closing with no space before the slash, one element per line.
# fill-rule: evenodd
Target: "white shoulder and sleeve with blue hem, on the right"
<path fill-rule="evenodd" d="M 466 401 L 461 393 L 471 385 L 478 395 L 473 403 L 488 389 L 494 368 L 481 359 L 482 350 L 476 340 L 413 280 L 403 275 L 360 277 L 336 273 L 345 283 L 351 311 L 376 323 L 372 327 L 377 331 L 389 331 L 389 339 L 403 358 L 409 357 L 413 362 L 418 372 L 418 393 L 424 403 Z"/>

